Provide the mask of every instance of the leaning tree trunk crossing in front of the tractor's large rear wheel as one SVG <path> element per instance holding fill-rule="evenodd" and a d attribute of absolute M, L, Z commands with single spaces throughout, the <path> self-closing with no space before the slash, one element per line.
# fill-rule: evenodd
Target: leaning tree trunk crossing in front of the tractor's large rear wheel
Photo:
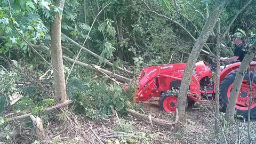
<path fill-rule="evenodd" d="M 256 41 L 254 41 L 253 43 L 252 50 L 255 50 L 255 48 L 256 48 Z M 249 63 L 252 61 L 253 58 L 254 58 L 253 54 L 245 55 L 244 60 L 242 61 L 237 71 L 235 81 L 234 81 L 236 83 L 234 83 L 233 89 L 231 90 L 227 109 L 226 109 L 226 114 L 225 114 L 225 119 L 227 121 L 230 120 L 231 123 L 234 122 L 236 101 L 238 97 L 238 92 L 241 88 L 241 85 L 244 79 L 244 73 L 246 72 L 247 68 L 249 67 Z"/>

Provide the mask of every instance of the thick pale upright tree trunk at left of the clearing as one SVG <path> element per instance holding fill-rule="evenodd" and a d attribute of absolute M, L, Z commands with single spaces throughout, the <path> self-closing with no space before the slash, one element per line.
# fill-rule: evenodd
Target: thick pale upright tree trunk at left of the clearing
<path fill-rule="evenodd" d="M 54 5 L 63 9 L 65 0 L 54 1 Z M 59 103 L 67 100 L 64 67 L 61 49 L 61 19 L 62 15 L 56 12 L 56 17 L 51 23 L 51 58 L 54 74 L 54 94 Z"/>

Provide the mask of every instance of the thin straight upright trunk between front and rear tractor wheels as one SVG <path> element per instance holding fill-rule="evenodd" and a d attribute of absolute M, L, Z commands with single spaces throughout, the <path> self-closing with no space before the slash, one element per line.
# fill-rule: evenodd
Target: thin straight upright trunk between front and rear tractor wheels
<path fill-rule="evenodd" d="M 220 34 L 220 19 L 218 21 L 218 33 L 217 33 L 217 48 L 216 48 L 216 54 L 217 54 L 217 66 L 216 66 L 216 83 L 215 83 L 215 134 L 218 134 L 219 132 L 219 99 L 220 99 L 220 43 L 221 43 L 221 34 Z"/>

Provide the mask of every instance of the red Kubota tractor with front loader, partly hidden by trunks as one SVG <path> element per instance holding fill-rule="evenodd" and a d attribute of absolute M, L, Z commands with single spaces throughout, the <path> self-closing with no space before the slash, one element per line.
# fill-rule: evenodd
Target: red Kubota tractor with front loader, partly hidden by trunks
<path fill-rule="evenodd" d="M 211 64 L 205 61 L 196 63 L 189 86 L 187 97 L 188 105 L 193 105 L 196 101 L 214 100 L 216 91 L 212 75 L 215 71 L 216 63 L 214 62 L 214 58 L 211 60 L 213 61 Z M 226 65 L 227 64 L 230 63 L 226 63 Z M 223 111 L 226 111 L 230 92 L 240 65 L 241 62 L 233 61 L 227 67 L 225 66 L 220 73 L 220 105 Z M 152 97 L 160 97 L 159 107 L 166 112 L 174 113 L 185 67 L 186 63 L 175 63 L 144 68 L 137 79 L 139 87 L 136 90 L 135 101 L 146 101 Z M 252 84 L 253 98 L 251 118 L 256 118 L 256 75 L 252 73 L 252 71 L 256 70 L 256 63 L 251 63 L 250 70 L 250 73 L 246 73 L 244 76 L 235 108 L 238 115 L 247 118 L 250 93 L 249 78 L 254 76 Z"/>

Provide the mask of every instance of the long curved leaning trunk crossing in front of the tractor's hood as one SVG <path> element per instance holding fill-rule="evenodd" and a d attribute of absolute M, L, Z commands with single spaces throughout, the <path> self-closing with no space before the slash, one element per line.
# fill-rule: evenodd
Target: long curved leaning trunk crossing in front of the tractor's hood
<path fill-rule="evenodd" d="M 225 6 L 226 1 L 219 0 L 215 3 L 214 9 L 210 15 L 210 17 L 206 20 L 205 25 L 201 31 L 201 34 L 196 40 L 196 43 L 193 46 L 193 49 L 189 55 L 187 60 L 187 66 L 185 68 L 185 72 L 182 77 L 181 86 L 180 86 L 180 93 L 177 102 L 177 108 L 179 111 L 179 121 L 183 121 L 183 117 L 185 114 L 185 107 L 187 102 L 187 95 L 188 95 L 188 87 L 191 80 L 191 74 L 193 73 L 193 69 L 198 58 L 200 51 L 202 50 L 205 42 L 207 41 L 209 35 L 211 34 L 215 23 L 217 22 L 219 15 Z M 179 130 L 180 124 L 175 126 L 175 131 Z"/>

